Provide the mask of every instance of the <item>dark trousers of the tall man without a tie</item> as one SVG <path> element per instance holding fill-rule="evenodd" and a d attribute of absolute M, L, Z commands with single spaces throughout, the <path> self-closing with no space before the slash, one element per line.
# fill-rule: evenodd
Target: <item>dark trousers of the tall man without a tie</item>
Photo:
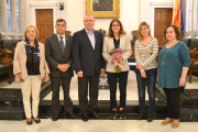
<path fill-rule="evenodd" d="M 99 75 L 78 77 L 78 101 L 82 114 L 96 111 L 98 102 Z M 89 107 L 88 107 L 88 85 L 89 85 Z"/>

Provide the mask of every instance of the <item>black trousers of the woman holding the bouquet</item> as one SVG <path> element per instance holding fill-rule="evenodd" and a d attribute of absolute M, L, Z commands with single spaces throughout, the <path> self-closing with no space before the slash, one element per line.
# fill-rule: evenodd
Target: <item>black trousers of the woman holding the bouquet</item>
<path fill-rule="evenodd" d="M 117 79 L 119 79 L 120 108 L 124 108 L 129 72 L 107 73 L 107 74 L 108 74 L 108 82 L 110 87 L 111 109 L 117 109 Z"/>

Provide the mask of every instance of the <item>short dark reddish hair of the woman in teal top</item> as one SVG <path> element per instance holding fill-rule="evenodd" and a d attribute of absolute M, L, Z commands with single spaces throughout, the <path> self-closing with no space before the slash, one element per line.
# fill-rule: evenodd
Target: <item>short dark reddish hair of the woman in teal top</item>
<path fill-rule="evenodd" d="M 177 25 L 173 25 L 173 24 L 169 24 L 169 25 L 167 25 L 167 26 L 164 29 L 164 32 L 163 32 L 164 38 L 168 42 L 168 40 L 166 38 L 166 30 L 167 30 L 168 28 L 170 28 L 170 26 L 172 26 L 172 28 L 174 29 L 174 31 L 175 31 L 177 41 L 180 41 L 180 40 L 182 40 L 182 33 L 180 33 L 180 31 L 179 31 L 179 28 L 178 28 Z"/>

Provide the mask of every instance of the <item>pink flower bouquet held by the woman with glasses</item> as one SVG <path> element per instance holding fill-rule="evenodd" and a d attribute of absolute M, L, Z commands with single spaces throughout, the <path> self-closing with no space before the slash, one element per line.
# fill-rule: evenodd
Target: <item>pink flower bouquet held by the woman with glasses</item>
<path fill-rule="evenodd" d="M 120 47 L 112 48 L 110 52 L 108 52 L 108 55 L 110 58 L 117 58 L 114 63 L 114 72 L 116 73 L 124 72 L 123 63 L 118 61 L 118 58 L 124 55 L 124 51 L 122 51 Z"/>

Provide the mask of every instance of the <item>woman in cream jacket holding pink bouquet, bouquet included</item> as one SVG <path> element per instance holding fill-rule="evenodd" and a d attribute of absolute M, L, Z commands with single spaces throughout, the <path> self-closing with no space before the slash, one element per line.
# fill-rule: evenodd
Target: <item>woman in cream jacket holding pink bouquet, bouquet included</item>
<path fill-rule="evenodd" d="M 127 97 L 127 82 L 129 74 L 128 58 L 131 56 L 131 42 L 123 30 L 120 20 L 113 19 L 110 22 L 108 35 L 103 41 L 103 58 L 107 61 L 106 72 L 110 87 L 110 119 L 117 118 L 117 80 L 120 89 L 120 119 L 125 119 L 124 107 Z"/>

